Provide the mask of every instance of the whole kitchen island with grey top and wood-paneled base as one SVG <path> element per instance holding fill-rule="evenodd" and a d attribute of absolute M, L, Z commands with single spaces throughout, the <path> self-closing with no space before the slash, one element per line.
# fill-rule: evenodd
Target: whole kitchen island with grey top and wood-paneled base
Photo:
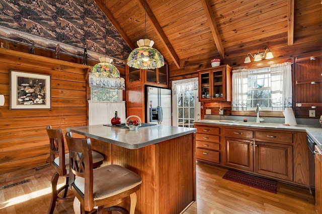
<path fill-rule="evenodd" d="M 106 125 L 66 128 L 142 178 L 135 213 L 180 213 L 196 200 L 195 128 L 155 125 L 136 131 Z M 74 135 L 76 136 L 76 135 Z M 108 181 L 108 178 L 107 178 Z M 129 208 L 129 200 L 123 206 Z"/>

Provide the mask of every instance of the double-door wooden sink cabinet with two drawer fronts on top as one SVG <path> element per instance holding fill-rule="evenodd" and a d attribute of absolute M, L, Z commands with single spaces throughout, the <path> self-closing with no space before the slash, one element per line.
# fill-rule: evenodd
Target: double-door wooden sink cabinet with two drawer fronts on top
<path fill-rule="evenodd" d="M 225 129 L 225 165 L 292 181 L 292 134 L 255 131 L 253 140 L 252 133 L 252 130 Z"/>

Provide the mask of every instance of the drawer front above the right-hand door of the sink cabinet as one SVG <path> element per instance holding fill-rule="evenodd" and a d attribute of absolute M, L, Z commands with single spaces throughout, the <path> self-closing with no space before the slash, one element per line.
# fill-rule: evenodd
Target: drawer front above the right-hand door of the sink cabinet
<path fill-rule="evenodd" d="M 267 131 L 255 131 L 256 140 L 260 141 L 275 141 L 292 143 L 293 134 L 292 133 L 280 133 L 280 132 L 267 132 Z"/>

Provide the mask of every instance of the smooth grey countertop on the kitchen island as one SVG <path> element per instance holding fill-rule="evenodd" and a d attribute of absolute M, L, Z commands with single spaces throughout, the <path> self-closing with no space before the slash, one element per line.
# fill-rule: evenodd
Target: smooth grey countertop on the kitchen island
<path fill-rule="evenodd" d="M 165 125 L 140 127 L 135 131 L 130 131 L 128 128 L 103 124 L 68 127 L 66 130 L 129 149 L 141 148 L 197 131 L 195 128 Z"/>

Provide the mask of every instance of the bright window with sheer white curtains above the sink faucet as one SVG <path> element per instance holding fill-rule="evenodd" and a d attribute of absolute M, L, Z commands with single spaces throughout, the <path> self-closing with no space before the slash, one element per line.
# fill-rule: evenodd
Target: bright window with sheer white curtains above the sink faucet
<path fill-rule="evenodd" d="M 232 71 L 232 110 L 283 111 L 292 107 L 291 63 Z"/>

